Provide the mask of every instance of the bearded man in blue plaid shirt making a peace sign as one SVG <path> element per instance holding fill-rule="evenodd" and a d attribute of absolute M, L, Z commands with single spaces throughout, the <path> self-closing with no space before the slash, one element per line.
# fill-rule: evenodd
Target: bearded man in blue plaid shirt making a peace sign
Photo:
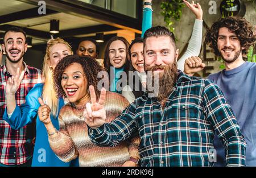
<path fill-rule="evenodd" d="M 115 146 L 139 133 L 141 166 L 211 166 L 214 131 L 225 143 L 229 166 L 245 165 L 246 143 L 230 106 L 217 85 L 177 70 L 179 49 L 166 27 L 144 34 L 144 66 L 159 76 L 158 94 L 151 90 L 130 104 L 113 122 L 105 123 L 105 89 L 86 105 L 84 117 L 93 143 Z"/>

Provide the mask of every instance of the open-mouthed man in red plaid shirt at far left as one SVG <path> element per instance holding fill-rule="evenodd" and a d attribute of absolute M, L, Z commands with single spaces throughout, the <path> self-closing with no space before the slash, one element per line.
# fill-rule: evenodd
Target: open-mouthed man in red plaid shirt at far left
<path fill-rule="evenodd" d="M 35 136 L 35 128 L 30 124 L 14 130 L 2 119 L 6 107 L 5 86 L 8 78 L 16 75 L 18 68 L 20 72 L 24 71 L 23 80 L 14 96 L 17 105 L 24 104 L 30 89 L 41 82 L 42 72 L 26 65 L 23 61 L 27 43 L 26 33 L 21 28 L 12 27 L 5 32 L 2 49 L 6 52 L 6 63 L 0 68 L 0 167 L 30 166 L 34 150 L 32 139 Z"/>

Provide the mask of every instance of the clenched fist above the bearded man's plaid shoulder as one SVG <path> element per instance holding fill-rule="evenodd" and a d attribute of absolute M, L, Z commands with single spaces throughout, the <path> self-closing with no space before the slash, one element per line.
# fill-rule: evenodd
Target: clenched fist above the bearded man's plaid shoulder
<path fill-rule="evenodd" d="M 205 64 L 202 62 L 200 57 L 189 57 L 185 60 L 184 73 L 188 76 L 193 76 L 194 73 L 199 72 L 205 68 Z"/>

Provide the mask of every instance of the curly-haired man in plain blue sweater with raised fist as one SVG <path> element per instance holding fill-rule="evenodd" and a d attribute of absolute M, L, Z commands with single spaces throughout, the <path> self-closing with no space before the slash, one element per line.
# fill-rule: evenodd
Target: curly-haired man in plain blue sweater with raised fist
<path fill-rule="evenodd" d="M 244 18 L 229 16 L 214 22 L 205 34 L 205 42 L 222 57 L 225 69 L 209 75 L 220 86 L 228 104 L 236 115 L 238 125 L 247 143 L 246 166 L 256 166 L 256 64 L 243 56 L 256 41 L 256 29 Z M 199 57 L 185 61 L 185 73 L 193 75 L 205 67 Z M 214 137 L 217 150 L 216 166 L 225 166 L 225 150 L 217 134 Z"/>

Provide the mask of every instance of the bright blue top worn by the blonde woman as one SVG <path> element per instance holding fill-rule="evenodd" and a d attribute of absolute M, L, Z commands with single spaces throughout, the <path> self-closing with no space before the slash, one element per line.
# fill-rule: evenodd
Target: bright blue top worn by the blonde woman
<path fill-rule="evenodd" d="M 38 108 L 40 107 L 38 98 L 42 96 L 44 84 L 36 84 L 26 96 L 26 102 L 20 106 L 16 105 L 13 114 L 9 118 L 7 110 L 3 119 L 8 122 L 13 129 L 24 127 L 36 118 L 36 140 L 34 154 L 32 158 L 32 167 L 69 167 L 79 166 L 78 160 L 69 163 L 62 162 L 52 151 L 48 142 L 48 134 L 44 123 L 39 120 Z M 63 98 L 59 98 L 59 111 L 64 106 Z M 59 113 L 57 114 L 59 115 Z M 59 120 L 51 115 L 53 126 L 59 130 Z"/>

